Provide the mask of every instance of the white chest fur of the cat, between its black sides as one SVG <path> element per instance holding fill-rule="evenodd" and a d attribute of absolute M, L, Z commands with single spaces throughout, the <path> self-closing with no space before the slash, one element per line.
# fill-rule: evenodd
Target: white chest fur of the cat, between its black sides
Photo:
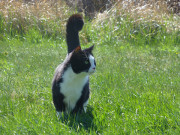
<path fill-rule="evenodd" d="M 64 95 L 64 103 L 66 111 L 72 111 L 81 97 L 84 85 L 88 81 L 88 74 L 83 72 L 75 74 L 69 67 L 62 76 L 63 83 L 60 84 L 60 92 Z"/>

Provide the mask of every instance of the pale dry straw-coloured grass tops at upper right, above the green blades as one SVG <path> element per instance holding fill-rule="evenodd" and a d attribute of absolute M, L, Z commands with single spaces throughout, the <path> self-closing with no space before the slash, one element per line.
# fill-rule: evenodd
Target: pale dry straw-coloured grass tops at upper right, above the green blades
<path fill-rule="evenodd" d="M 96 22 L 102 22 L 109 18 L 128 18 L 134 24 L 152 23 L 166 25 L 168 31 L 180 30 L 180 17 L 171 14 L 168 4 L 165 0 L 117 0 L 114 6 L 104 12 L 97 14 Z M 112 19 L 111 19 L 112 20 Z"/>

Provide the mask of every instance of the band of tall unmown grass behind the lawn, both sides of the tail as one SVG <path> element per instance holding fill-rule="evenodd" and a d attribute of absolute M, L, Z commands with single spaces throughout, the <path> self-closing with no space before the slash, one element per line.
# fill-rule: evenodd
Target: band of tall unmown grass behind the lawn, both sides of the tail
<path fill-rule="evenodd" d="M 55 0 L 1 1 L 0 9 L 0 39 L 17 37 L 23 40 L 27 35 L 34 35 L 27 36 L 28 39 L 31 37 L 32 42 L 39 38 L 37 35 L 61 40 L 65 35 L 66 19 L 74 12 L 63 1 Z M 164 0 L 118 0 L 111 9 L 97 13 L 92 22 L 93 29 L 98 28 L 99 33 L 103 34 L 103 29 L 111 29 L 111 33 L 107 34 L 112 34 L 112 38 L 126 39 L 137 45 L 159 44 L 161 41 L 164 44 L 170 39 L 172 44 L 179 42 L 180 19 L 177 15 L 169 14 Z M 172 36 L 176 37 L 174 39 L 171 35 L 177 36 Z M 88 32 L 83 36 L 84 41 L 89 41 Z"/>

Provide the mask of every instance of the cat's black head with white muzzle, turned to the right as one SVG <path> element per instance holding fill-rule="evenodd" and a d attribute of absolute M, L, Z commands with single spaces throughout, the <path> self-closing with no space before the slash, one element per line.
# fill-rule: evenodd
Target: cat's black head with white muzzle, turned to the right
<path fill-rule="evenodd" d="M 74 49 L 70 58 L 70 64 L 74 73 L 86 72 L 91 74 L 95 72 L 96 62 L 92 54 L 93 48 L 94 45 L 84 50 L 81 50 L 80 46 Z"/>

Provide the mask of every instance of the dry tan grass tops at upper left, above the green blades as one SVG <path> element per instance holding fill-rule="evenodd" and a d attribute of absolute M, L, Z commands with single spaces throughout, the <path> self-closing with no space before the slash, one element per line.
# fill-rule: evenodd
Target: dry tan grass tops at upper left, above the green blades
<path fill-rule="evenodd" d="M 21 0 L 0 1 L 0 11 L 4 16 L 18 13 L 25 19 L 34 16 L 38 19 L 63 19 L 67 15 L 68 7 L 62 1 L 39 0 L 38 2 L 22 2 Z"/>

